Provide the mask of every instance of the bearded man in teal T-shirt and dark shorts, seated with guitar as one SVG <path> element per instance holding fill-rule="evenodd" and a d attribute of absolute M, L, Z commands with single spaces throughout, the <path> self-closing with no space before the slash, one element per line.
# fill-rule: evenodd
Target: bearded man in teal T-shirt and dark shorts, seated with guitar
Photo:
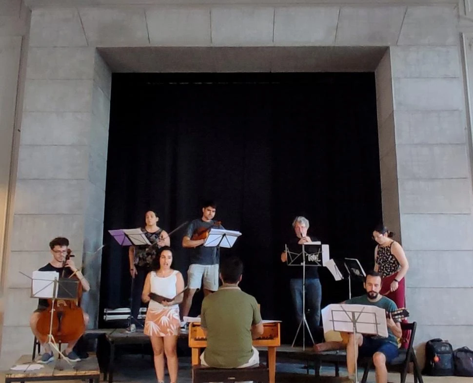
<path fill-rule="evenodd" d="M 355 297 L 344 302 L 348 305 L 371 305 L 384 308 L 388 313 L 386 320 L 388 325 L 388 338 L 356 334 L 354 347 L 354 334 L 349 335 L 347 348 L 347 369 L 350 379 L 355 378 L 355 361 L 357 356 L 373 357 L 376 371 L 376 383 L 388 382 L 388 371 L 386 362 L 391 362 L 398 355 L 397 338 L 402 335 L 400 323 L 394 322 L 390 313 L 397 310 L 397 306 L 389 298 L 379 293 L 381 289 L 381 275 L 376 271 L 370 271 L 366 275 L 364 287 L 366 295 Z M 314 346 L 317 350 L 317 345 Z"/>

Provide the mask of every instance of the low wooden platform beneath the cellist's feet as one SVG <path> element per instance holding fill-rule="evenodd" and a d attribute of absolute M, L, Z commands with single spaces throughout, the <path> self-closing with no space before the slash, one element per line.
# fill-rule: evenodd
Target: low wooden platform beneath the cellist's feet
<path fill-rule="evenodd" d="M 65 380 L 88 380 L 89 383 L 100 382 L 99 363 L 95 355 L 90 355 L 80 362 L 69 364 L 64 359 L 55 359 L 54 362 L 42 364 L 42 368 L 29 369 L 31 355 L 23 355 L 12 366 L 24 364 L 21 370 L 9 369 L 5 372 L 5 383 L 9 382 L 38 382 L 38 381 L 65 381 Z"/>

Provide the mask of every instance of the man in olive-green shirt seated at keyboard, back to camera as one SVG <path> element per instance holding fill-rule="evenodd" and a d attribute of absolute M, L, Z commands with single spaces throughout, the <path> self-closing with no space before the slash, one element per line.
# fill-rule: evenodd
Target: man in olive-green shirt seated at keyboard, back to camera
<path fill-rule="evenodd" d="M 222 260 L 223 285 L 202 302 L 201 324 L 207 348 L 200 363 L 217 368 L 244 368 L 259 364 L 253 339 L 263 334 L 263 322 L 256 299 L 241 291 L 243 264 L 237 257 Z"/>

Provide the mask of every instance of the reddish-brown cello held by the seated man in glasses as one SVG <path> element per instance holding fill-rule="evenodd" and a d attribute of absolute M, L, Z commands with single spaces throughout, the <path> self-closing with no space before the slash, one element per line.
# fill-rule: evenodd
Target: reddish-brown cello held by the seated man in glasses
<path fill-rule="evenodd" d="M 66 262 L 74 257 L 71 254 L 71 249 L 67 249 L 67 255 L 62 262 L 62 273 L 59 278 L 59 285 L 62 280 L 75 279 L 78 277 L 74 274 L 69 278 L 64 278 L 64 270 Z M 77 341 L 85 332 L 84 314 L 80 308 L 80 298 L 82 297 L 82 284 L 78 283 L 78 296 L 75 300 L 69 299 L 48 299 L 48 307 L 41 311 L 37 323 L 37 329 L 41 338 L 41 343 L 46 343 L 49 340 L 49 335 L 52 335 L 56 342 L 70 343 Z M 52 326 L 51 326 L 52 319 Z"/>

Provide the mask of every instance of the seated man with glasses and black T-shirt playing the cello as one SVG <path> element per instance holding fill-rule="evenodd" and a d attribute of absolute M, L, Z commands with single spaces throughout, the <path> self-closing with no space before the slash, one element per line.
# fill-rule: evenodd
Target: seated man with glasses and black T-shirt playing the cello
<path fill-rule="evenodd" d="M 67 238 L 64 238 L 64 237 L 54 238 L 49 243 L 49 248 L 53 256 L 53 259 L 46 266 L 39 268 L 39 271 L 57 271 L 59 272 L 59 275 L 63 274 L 64 277 L 69 277 L 74 274 L 79 279 L 80 284 L 82 285 L 82 289 L 84 291 L 88 291 L 90 289 L 89 282 L 87 282 L 87 280 L 82 275 L 80 270 L 76 268 L 74 261 L 72 259 L 69 259 L 64 264 L 68 246 L 69 246 L 69 240 Z M 30 318 L 31 330 L 33 331 L 33 334 L 39 340 L 39 342 L 41 342 L 41 339 L 44 339 L 45 337 L 44 337 L 44 334 L 39 333 L 37 325 L 38 325 L 38 321 L 39 321 L 41 313 L 44 310 L 46 310 L 48 306 L 49 304 L 46 299 L 39 299 L 38 308 L 35 310 L 35 312 L 33 312 Z M 87 326 L 87 323 L 89 322 L 89 316 L 85 312 L 83 313 L 83 320 L 84 320 L 85 326 Z M 75 341 L 69 342 L 66 349 L 62 352 L 62 354 L 66 356 L 71 362 L 77 362 L 80 360 L 78 355 L 73 351 L 73 348 L 76 345 L 79 338 L 76 339 Z M 54 353 L 51 349 L 51 346 L 48 343 L 42 343 L 42 342 L 41 342 L 41 346 L 44 349 L 44 353 L 41 355 L 38 363 L 46 364 L 53 361 Z"/>

